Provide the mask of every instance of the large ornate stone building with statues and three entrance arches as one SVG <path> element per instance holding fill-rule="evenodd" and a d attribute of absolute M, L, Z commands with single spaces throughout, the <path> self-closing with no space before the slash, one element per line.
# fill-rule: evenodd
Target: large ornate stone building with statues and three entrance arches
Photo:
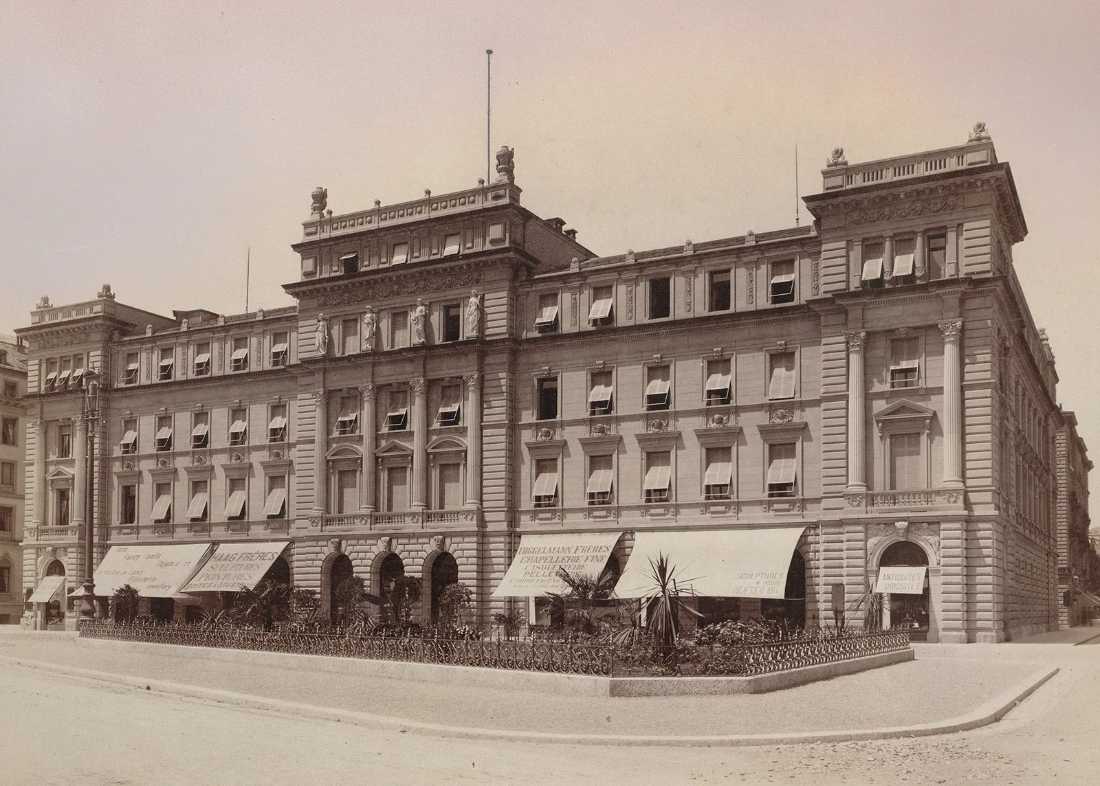
<path fill-rule="evenodd" d="M 507 148 L 497 171 L 341 215 L 316 190 L 296 307 L 40 303 L 19 331 L 41 423 L 28 586 L 82 580 L 92 494 L 97 562 L 271 543 L 263 564 L 330 611 L 343 578 L 378 594 L 407 572 L 420 619 L 459 579 L 485 626 L 536 594 L 508 573 L 520 549 L 516 566 L 598 555 L 620 587 L 679 550 L 716 572 L 695 577 L 708 620 L 832 620 L 840 587 L 850 607 L 893 567 L 916 584 L 891 621 L 932 641 L 1057 626 L 1057 376 L 983 128 L 869 164 L 835 152 L 812 226 L 608 257 L 520 206 Z M 105 380 L 90 488 L 78 363 Z M 147 610 L 187 616 L 184 586 Z"/>

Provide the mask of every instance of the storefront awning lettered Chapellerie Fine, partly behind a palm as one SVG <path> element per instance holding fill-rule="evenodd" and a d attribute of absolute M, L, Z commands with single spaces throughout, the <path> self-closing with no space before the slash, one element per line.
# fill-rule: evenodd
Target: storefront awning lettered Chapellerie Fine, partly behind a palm
<path fill-rule="evenodd" d="M 560 567 L 574 576 L 595 578 L 607 564 L 607 557 L 622 534 L 613 531 L 524 535 L 508 572 L 493 590 L 493 597 L 522 598 L 564 593 L 565 584 L 558 577 Z"/>

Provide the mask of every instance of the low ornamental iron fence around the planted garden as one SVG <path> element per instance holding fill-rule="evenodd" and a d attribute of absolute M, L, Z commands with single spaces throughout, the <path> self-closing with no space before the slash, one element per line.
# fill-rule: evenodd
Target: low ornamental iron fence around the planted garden
<path fill-rule="evenodd" d="M 752 644 L 681 643 L 672 658 L 654 657 L 651 643 L 605 644 L 568 641 L 459 640 L 263 631 L 201 623 L 116 623 L 81 621 L 87 639 L 136 641 L 227 650 L 374 661 L 479 666 L 592 676 L 754 676 L 790 668 L 849 661 L 909 649 L 909 630 L 821 629 L 782 641 Z M 674 664 L 674 665 L 670 665 Z"/>

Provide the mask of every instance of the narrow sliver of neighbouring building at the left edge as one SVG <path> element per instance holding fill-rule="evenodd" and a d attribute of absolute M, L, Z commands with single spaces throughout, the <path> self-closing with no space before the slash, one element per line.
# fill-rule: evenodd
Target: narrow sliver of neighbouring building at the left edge
<path fill-rule="evenodd" d="M 0 335 L 0 624 L 23 612 L 23 456 L 26 411 L 26 350 Z"/>

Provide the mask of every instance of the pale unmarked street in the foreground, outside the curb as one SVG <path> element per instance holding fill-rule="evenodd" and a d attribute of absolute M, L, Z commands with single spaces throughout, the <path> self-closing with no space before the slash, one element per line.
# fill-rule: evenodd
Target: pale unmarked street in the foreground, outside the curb
<path fill-rule="evenodd" d="M 63 640 L 38 642 L 37 647 L 65 651 Z M 9 654 L 15 642 L 4 644 Z M 967 657 L 959 658 L 960 652 Z M 982 657 L 975 658 L 978 654 Z M 6 767 L 0 781 L 120 786 L 326 783 L 331 778 L 540 785 L 1097 782 L 1100 755 L 1092 719 L 1100 710 L 1100 647 L 921 647 L 919 655 L 947 675 L 959 660 L 994 665 L 1043 660 L 1057 663 L 1062 672 L 1000 723 L 963 734 L 684 749 L 435 740 L 14 667 L 0 672 L 0 696 L 4 697 L 0 728 L 6 730 L 0 737 L 0 761 Z M 161 678 L 172 678 L 172 667 L 164 664 Z M 821 685 L 844 689 L 845 682 L 853 679 L 842 677 Z M 854 685 L 848 682 L 847 687 Z M 937 695 L 956 687 L 931 680 L 926 689 Z M 773 696 L 798 698 L 802 690 Z M 510 698 L 532 715 L 538 715 L 544 701 L 540 695 L 502 697 L 503 693 L 485 700 Z M 873 697 L 853 698 L 854 704 L 861 704 Z M 476 711 L 473 708 L 472 713 Z M 767 719 L 757 717 L 756 721 L 766 723 Z"/>

